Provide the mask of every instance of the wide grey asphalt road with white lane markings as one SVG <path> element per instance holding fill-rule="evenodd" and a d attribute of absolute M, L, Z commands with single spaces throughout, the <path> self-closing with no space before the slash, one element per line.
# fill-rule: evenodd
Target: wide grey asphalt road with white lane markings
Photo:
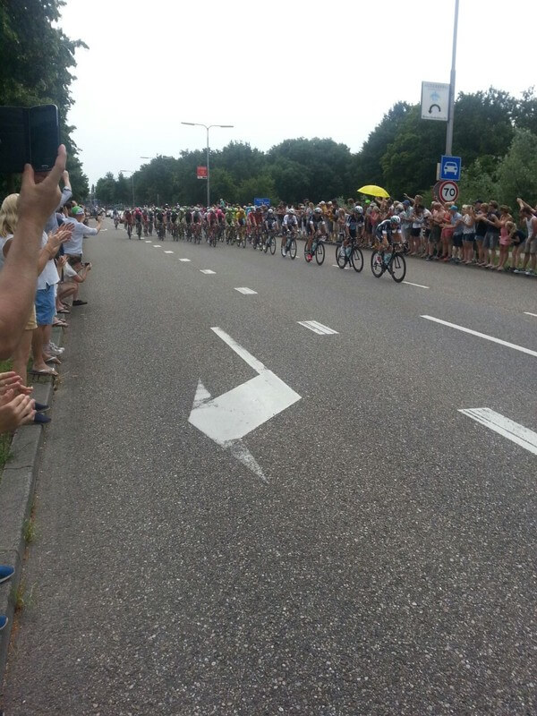
<path fill-rule="evenodd" d="M 410 259 L 396 285 L 367 252 L 358 275 L 332 247 L 318 267 L 107 229 L 6 716 L 537 713 L 537 281 Z M 268 372 L 298 397 L 242 439 L 248 400 L 221 443 L 189 422 L 199 381 L 217 410 Z"/>

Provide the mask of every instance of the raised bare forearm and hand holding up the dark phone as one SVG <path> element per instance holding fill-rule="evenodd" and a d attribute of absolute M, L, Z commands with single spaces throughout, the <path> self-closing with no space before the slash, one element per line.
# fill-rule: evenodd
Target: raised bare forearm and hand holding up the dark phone
<path fill-rule="evenodd" d="M 36 290 L 43 227 L 61 199 L 58 182 L 65 169 L 65 158 L 62 144 L 55 166 L 40 182 L 36 182 L 30 165 L 24 167 L 18 199 L 19 221 L 13 237 L 20 240 L 13 241 L 13 250 L 0 271 L 0 359 L 13 354 L 28 323 Z"/>

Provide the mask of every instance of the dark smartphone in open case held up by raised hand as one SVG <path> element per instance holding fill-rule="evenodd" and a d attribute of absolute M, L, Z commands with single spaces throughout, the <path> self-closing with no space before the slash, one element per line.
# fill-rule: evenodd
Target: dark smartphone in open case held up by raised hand
<path fill-rule="evenodd" d="M 25 164 L 48 172 L 60 144 L 58 108 L 0 107 L 0 174 L 19 174 Z"/>

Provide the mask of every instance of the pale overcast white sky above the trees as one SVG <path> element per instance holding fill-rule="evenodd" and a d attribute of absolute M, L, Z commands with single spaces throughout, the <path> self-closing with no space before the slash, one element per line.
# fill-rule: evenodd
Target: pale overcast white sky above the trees
<path fill-rule="evenodd" d="M 90 183 L 142 155 L 330 137 L 358 151 L 422 81 L 448 82 L 455 0 L 67 0 L 77 51 L 68 117 Z M 456 91 L 536 81 L 537 4 L 460 0 Z M 456 120 L 455 120 L 456 121 Z M 453 148 L 456 153 L 456 147 Z"/>

